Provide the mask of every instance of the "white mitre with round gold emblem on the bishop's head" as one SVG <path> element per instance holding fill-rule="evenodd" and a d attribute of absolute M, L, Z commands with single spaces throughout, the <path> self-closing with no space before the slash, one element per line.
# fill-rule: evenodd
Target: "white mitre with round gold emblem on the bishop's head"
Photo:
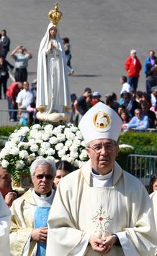
<path fill-rule="evenodd" d="M 99 102 L 84 114 L 79 122 L 79 129 L 86 143 L 91 140 L 118 140 L 122 120 L 120 116 L 106 104 Z"/>

